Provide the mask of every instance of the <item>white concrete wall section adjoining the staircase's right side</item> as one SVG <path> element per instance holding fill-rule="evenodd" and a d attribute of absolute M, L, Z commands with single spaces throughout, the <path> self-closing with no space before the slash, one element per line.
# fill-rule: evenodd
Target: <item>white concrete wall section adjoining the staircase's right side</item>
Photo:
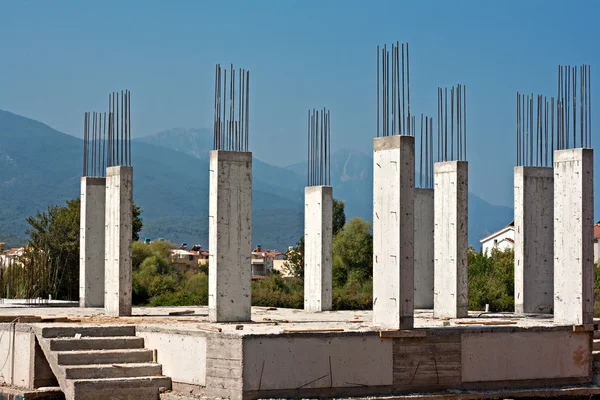
<path fill-rule="evenodd" d="M 189 332 L 153 332 L 143 328 L 136 329 L 136 336 L 144 338 L 147 349 L 156 349 L 163 375 L 177 383 L 206 385 L 206 337 Z"/>

